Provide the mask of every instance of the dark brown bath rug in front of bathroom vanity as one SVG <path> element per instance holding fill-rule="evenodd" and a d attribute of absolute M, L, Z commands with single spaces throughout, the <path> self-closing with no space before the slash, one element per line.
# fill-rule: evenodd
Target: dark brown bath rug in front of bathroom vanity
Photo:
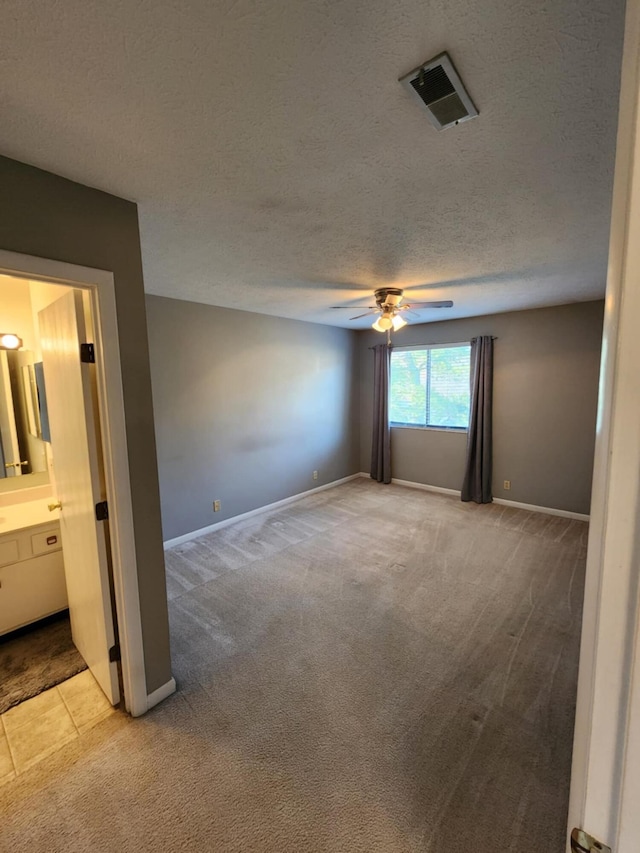
<path fill-rule="evenodd" d="M 68 611 L 0 637 L 0 714 L 86 668 Z"/>

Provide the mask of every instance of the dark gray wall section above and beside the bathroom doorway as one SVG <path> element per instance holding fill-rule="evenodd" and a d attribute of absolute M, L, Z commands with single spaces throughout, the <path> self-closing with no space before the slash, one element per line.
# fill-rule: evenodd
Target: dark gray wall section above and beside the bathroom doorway
<path fill-rule="evenodd" d="M 0 157 L 0 246 L 115 278 L 147 690 L 171 677 L 136 205 Z"/>

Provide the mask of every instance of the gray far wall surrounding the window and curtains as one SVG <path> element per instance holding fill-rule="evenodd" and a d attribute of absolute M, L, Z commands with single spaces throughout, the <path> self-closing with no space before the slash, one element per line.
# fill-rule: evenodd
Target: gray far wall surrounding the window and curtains
<path fill-rule="evenodd" d="M 495 335 L 494 497 L 588 513 L 595 441 L 602 302 L 411 325 L 398 346 Z M 369 471 L 373 356 L 359 333 L 361 470 Z M 399 480 L 460 489 L 466 433 L 392 429 Z M 511 490 L 502 488 L 511 480 Z"/>

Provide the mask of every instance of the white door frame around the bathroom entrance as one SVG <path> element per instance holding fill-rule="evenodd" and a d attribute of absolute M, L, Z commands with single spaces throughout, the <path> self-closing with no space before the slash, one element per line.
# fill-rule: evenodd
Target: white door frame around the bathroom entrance
<path fill-rule="evenodd" d="M 126 710 L 137 717 L 148 710 L 149 702 L 113 273 L 2 249 L 0 273 L 63 284 L 90 294 L 123 698 Z"/>

